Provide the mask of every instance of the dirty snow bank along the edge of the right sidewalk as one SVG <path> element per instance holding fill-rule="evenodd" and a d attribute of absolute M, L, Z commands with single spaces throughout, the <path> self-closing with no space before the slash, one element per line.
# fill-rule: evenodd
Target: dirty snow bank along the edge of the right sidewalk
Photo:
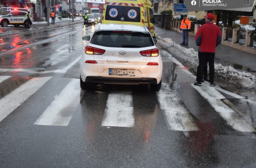
<path fill-rule="evenodd" d="M 189 66 L 194 70 L 198 66 L 198 52 L 193 48 L 185 48 L 176 44 L 170 38 L 162 38 L 156 34 L 157 44 L 162 49 L 170 52 L 176 59 L 178 59 L 185 66 Z M 222 66 L 215 64 L 215 76 L 222 82 L 234 84 L 241 88 L 252 89 L 256 88 L 256 77 L 250 73 L 239 72 L 231 66 Z"/>

